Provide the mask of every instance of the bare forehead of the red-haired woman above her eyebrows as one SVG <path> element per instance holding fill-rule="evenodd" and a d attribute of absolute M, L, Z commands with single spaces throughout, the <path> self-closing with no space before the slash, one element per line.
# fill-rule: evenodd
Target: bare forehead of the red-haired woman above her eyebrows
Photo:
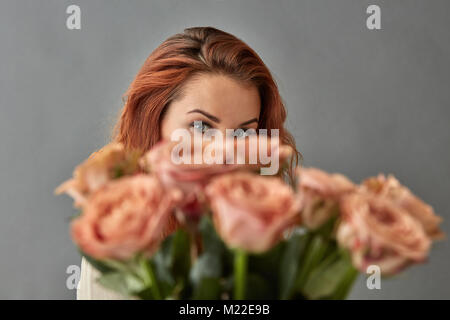
<path fill-rule="evenodd" d="M 260 97 L 256 86 L 221 74 L 200 74 L 189 79 L 178 101 L 184 111 L 199 108 L 223 121 L 258 118 Z"/>

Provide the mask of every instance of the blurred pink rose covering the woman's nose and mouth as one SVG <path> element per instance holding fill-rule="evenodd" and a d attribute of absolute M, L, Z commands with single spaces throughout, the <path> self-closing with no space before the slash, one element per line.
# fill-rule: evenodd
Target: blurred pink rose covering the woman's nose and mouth
<path fill-rule="evenodd" d="M 182 211 L 190 217 L 199 217 L 205 211 L 204 188 L 213 177 L 236 170 L 255 170 L 261 166 L 258 162 L 259 147 L 249 148 L 255 141 L 259 142 L 258 139 L 258 137 L 242 140 L 230 138 L 221 144 L 203 141 L 200 163 L 194 163 L 195 149 L 190 141 L 187 143 L 161 141 L 142 157 L 140 164 L 144 170 L 158 175 L 165 186 L 180 188 L 184 192 Z M 291 154 L 292 149 L 288 146 L 279 146 L 276 141 L 268 139 L 265 145 L 268 148 L 267 154 L 270 155 L 273 151 L 278 154 L 280 160 L 284 160 Z M 238 147 L 240 143 L 243 143 L 243 149 Z M 230 163 L 227 163 L 227 157 L 230 156 L 227 153 L 227 145 L 233 148 L 234 159 Z M 259 146 L 258 143 L 256 145 Z M 205 160 L 208 156 L 210 160 L 215 160 L 212 158 L 216 154 L 217 160 L 220 159 L 221 163 Z M 256 159 L 254 164 L 249 161 L 253 158 Z M 184 159 L 191 162 L 183 163 L 181 160 Z"/>

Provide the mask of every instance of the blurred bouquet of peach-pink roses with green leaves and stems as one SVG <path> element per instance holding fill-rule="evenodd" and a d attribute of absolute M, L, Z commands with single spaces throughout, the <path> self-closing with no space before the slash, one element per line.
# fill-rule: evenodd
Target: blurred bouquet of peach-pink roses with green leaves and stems
<path fill-rule="evenodd" d="M 290 148 L 269 144 L 286 163 Z M 393 176 L 297 168 L 291 186 L 261 164 L 176 164 L 173 149 L 110 144 L 57 189 L 81 211 L 71 236 L 98 281 L 125 296 L 344 299 L 359 272 L 397 274 L 443 236 Z"/>

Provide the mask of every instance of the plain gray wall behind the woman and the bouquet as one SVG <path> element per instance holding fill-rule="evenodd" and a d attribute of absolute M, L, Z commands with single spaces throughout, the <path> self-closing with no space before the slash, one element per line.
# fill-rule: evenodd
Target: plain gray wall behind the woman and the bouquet
<path fill-rule="evenodd" d="M 78 4 L 82 29 L 65 27 Z M 378 4 L 382 30 L 366 28 Z M 73 299 L 66 268 L 73 167 L 107 143 L 144 59 L 189 26 L 215 26 L 273 72 L 305 165 L 355 181 L 394 173 L 450 233 L 450 1 L 160 0 L 0 3 L 0 298 Z M 352 298 L 450 298 L 449 242 L 430 263 Z"/>

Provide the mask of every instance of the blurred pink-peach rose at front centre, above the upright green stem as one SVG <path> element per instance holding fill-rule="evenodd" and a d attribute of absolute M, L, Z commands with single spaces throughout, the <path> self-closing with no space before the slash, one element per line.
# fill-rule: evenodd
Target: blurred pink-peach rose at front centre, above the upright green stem
<path fill-rule="evenodd" d="M 229 247 L 263 252 L 298 220 L 300 202 L 277 177 L 235 172 L 206 187 L 215 228 Z"/>

